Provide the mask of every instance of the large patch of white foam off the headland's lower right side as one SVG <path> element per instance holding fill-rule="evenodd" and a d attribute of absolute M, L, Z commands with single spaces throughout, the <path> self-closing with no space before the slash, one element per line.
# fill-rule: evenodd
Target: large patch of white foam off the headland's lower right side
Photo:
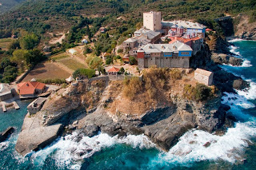
<path fill-rule="evenodd" d="M 226 160 L 234 163 L 242 160 L 243 148 L 248 147 L 250 137 L 256 136 L 256 126 L 252 122 L 237 123 L 235 128 L 229 128 L 224 136 L 216 136 L 202 130 L 186 132 L 167 153 L 160 153 L 152 160 L 155 164 L 189 165 L 194 161 Z M 210 143 L 210 146 L 204 146 Z"/>

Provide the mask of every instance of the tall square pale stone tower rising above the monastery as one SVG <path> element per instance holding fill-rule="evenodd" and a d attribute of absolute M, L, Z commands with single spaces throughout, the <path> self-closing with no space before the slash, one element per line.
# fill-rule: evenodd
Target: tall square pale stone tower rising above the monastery
<path fill-rule="evenodd" d="M 143 13 L 143 27 L 149 30 L 161 30 L 161 12 Z"/>

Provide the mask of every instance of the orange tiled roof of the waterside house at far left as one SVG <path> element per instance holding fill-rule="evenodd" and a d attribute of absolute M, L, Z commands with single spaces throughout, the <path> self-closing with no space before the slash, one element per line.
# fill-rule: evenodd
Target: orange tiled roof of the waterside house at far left
<path fill-rule="evenodd" d="M 40 83 L 40 82 L 31 82 L 26 81 L 19 83 L 18 85 L 18 91 L 20 94 L 34 94 L 35 89 L 44 89 L 46 84 Z"/>

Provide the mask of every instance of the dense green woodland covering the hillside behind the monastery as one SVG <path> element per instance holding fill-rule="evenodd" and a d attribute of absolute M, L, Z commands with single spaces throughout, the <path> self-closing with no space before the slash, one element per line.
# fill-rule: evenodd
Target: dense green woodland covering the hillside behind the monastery
<path fill-rule="evenodd" d="M 0 81 L 14 81 L 19 73 L 45 60 L 39 49 L 49 42 L 47 33 L 63 31 L 68 34 L 62 44 L 50 46 L 52 53 L 74 47 L 87 36 L 89 42 L 94 42 L 93 48 L 85 47 L 85 55 L 94 54 L 87 64 L 90 69 L 102 70 L 100 53 L 111 53 L 116 45 L 129 38 L 142 26 L 142 13 L 150 10 L 161 11 L 165 20 L 200 22 L 216 30 L 212 34 L 216 39 L 230 36 L 234 28 L 224 30 L 214 18 L 246 14 L 250 22 L 256 21 L 255 0 L 28 0 L 0 15 L 0 38 L 18 37 L 7 51 L 0 49 Z M 236 21 L 229 22 L 232 25 Z M 102 26 L 106 33 L 95 37 Z M 108 56 L 106 64 L 117 58 Z"/>

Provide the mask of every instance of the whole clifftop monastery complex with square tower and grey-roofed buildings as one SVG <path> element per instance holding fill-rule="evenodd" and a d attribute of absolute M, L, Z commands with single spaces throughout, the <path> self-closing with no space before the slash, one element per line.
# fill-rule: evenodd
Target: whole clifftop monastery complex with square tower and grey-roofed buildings
<path fill-rule="evenodd" d="M 143 13 L 143 27 L 122 43 L 123 52 L 137 57 L 138 68 L 189 68 L 190 57 L 202 47 L 206 26 L 188 21 L 166 22 L 160 12 Z"/>

